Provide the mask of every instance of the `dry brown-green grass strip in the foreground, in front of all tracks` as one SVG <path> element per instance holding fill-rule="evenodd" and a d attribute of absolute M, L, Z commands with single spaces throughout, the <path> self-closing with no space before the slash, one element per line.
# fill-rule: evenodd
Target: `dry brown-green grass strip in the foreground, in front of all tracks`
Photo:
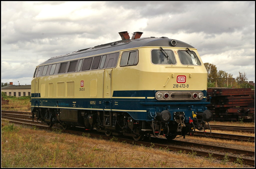
<path fill-rule="evenodd" d="M 240 167 L 194 154 L 14 126 L 2 121 L 1 166 L 19 167 Z M 202 160 L 203 159 L 203 160 Z"/>

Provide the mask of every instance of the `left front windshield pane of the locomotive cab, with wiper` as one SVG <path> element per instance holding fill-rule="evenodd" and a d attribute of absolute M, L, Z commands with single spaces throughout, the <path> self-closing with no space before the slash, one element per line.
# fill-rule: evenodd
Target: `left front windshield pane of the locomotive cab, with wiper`
<path fill-rule="evenodd" d="M 166 52 L 166 53 L 164 53 Z M 168 55 L 166 55 L 168 54 Z M 166 55 L 166 56 L 165 56 Z M 171 50 L 152 50 L 151 51 L 151 61 L 153 64 L 160 65 L 174 65 L 176 60 Z"/>

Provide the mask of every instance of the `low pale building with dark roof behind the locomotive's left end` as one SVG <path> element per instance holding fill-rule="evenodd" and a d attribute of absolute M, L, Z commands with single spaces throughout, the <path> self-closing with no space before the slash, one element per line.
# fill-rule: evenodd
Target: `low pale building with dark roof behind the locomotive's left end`
<path fill-rule="evenodd" d="M 16 96 L 16 97 L 30 96 L 31 84 L 13 85 L 13 82 L 10 82 L 10 85 L 2 87 L 1 91 L 4 92 L 7 96 Z"/>

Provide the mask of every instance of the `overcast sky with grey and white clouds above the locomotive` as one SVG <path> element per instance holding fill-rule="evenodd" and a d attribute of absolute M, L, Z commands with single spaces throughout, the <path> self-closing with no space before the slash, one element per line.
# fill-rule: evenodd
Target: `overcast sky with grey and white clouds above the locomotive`
<path fill-rule="evenodd" d="M 30 84 L 50 57 L 121 40 L 122 31 L 186 42 L 204 63 L 255 82 L 254 1 L 2 1 L 1 82 Z"/>

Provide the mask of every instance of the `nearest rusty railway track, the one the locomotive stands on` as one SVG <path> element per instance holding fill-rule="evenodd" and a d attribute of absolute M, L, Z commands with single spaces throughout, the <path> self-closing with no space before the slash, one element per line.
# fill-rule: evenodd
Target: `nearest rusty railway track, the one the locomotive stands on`
<path fill-rule="evenodd" d="M 25 124 L 29 126 L 36 126 L 37 128 L 42 128 L 42 129 L 47 129 L 47 130 L 52 130 L 54 128 L 49 128 L 47 125 L 43 125 L 40 122 L 34 121 L 31 123 L 31 120 L 26 120 L 26 119 L 17 119 L 13 117 L 4 117 L 2 116 L 2 119 L 7 118 L 11 123 L 16 123 L 16 124 Z M 72 133 L 72 134 L 77 134 L 77 135 L 82 135 L 84 131 L 82 128 L 78 128 L 78 130 L 62 130 L 62 132 L 66 133 Z M 105 136 L 105 135 L 100 135 L 95 133 L 94 130 L 91 130 L 88 132 L 90 134 L 90 137 L 94 138 L 103 138 L 103 139 L 112 139 L 113 137 L 111 136 Z M 221 146 L 213 146 L 213 145 L 208 145 L 208 144 L 201 144 L 201 143 L 191 143 L 191 142 L 185 142 L 185 141 L 178 141 L 178 140 L 173 140 L 173 141 L 167 141 L 167 139 L 164 138 L 154 138 L 152 137 L 150 141 L 134 141 L 131 139 L 127 139 L 125 137 L 118 137 L 118 141 L 120 142 L 127 142 L 131 144 L 137 144 L 137 145 L 143 145 L 147 147 L 153 147 L 158 148 L 158 149 L 166 149 L 169 151 L 176 151 L 176 152 L 183 152 L 183 153 L 194 153 L 198 156 L 209 156 L 211 154 L 212 158 L 216 158 L 219 160 L 223 160 L 225 156 L 228 156 L 230 161 L 236 161 L 238 157 L 240 157 L 244 164 L 248 165 L 253 165 L 255 164 L 255 152 L 254 151 L 249 151 L 249 150 L 241 150 L 241 149 L 234 149 L 234 148 L 228 148 L 228 147 L 221 147 Z M 213 152 L 214 150 L 214 152 Z M 231 153 L 231 155 L 227 155 L 226 153 Z M 239 155 L 238 155 L 239 154 Z"/>

